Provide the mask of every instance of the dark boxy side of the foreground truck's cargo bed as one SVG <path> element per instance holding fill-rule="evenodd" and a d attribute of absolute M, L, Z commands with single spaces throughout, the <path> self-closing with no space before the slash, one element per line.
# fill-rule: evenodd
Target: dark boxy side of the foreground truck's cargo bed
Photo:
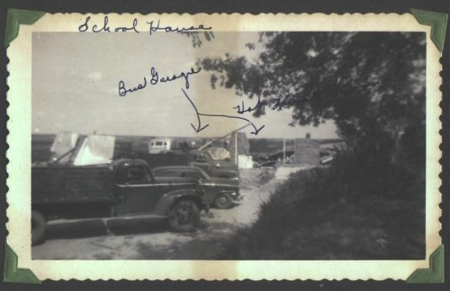
<path fill-rule="evenodd" d="M 50 166 L 31 169 L 33 205 L 112 202 L 112 166 Z"/>

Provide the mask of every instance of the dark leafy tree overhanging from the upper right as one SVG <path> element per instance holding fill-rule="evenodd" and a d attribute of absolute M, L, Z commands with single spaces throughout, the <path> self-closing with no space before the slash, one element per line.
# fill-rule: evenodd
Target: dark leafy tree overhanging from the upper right
<path fill-rule="evenodd" d="M 392 163 L 425 157 L 425 33 L 262 32 L 256 60 L 202 59 L 211 86 L 293 108 L 293 124 L 333 120 L 353 149 Z M 276 106 L 279 105 L 279 106 Z M 275 106 L 275 107 L 274 107 Z"/>

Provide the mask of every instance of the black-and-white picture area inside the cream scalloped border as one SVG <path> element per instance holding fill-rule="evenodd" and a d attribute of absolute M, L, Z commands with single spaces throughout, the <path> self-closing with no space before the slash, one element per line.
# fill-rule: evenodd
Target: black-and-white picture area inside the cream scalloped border
<path fill-rule="evenodd" d="M 147 25 L 32 32 L 32 259 L 427 259 L 425 32 Z"/>

